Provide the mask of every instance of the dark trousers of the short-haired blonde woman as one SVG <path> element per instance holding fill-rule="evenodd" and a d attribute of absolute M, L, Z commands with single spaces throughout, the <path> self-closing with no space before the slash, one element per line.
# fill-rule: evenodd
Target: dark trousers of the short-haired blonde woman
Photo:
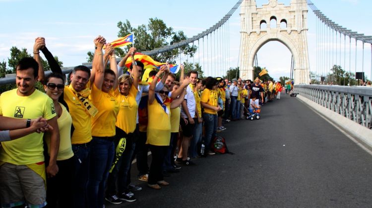
<path fill-rule="evenodd" d="M 119 193 L 128 193 L 127 188 L 127 177 L 128 171 L 131 166 L 131 159 L 134 153 L 135 143 L 131 141 L 131 138 L 126 137 L 125 150 L 122 154 L 122 157 L 119 159 L 118 163 L 114 169 L 109 174 L 107 180 L 107 195 L 113 196 L 116 195 L 116 184 L 118 184 Z"/>

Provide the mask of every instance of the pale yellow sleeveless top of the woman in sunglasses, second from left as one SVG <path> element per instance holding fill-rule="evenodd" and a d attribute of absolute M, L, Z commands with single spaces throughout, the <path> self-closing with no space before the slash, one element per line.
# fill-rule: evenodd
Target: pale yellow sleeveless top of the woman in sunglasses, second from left
<path fill-rule="evenodd" d="M 62 114 L 60 118 L 57 119 L 58 128 L 60 129 L 60 149 L 58 150 L 57 160 L 63 161 L 72 158 L 73 156 L 70 136 L 72 118 L 67 112 L 66 107 L 64 107 L 61 103 L 59 105 L 62 107 Z M 50 155 L 51 136 L 48 132 L 45 134 L 45 141 L 48 145 L 48 154 Z"/>

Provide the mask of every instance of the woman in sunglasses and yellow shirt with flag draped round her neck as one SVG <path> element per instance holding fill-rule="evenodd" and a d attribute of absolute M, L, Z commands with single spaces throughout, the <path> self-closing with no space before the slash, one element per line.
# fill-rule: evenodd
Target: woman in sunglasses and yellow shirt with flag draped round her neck
<path fill-rule="evenodd" d="M 184 89 L 182 90 L 182 93 L 178 99 L 172 100 L 168 97 L 169 88 L 166 85 L 158 93 L 155 93 L 155 85 L 157 80 L 159 76 L 166 70 L 169 71 L 169 65 L 167 67 L 163 65 L 160 71 L 156 74 L 156 79 L 151 82 L 148 94 L 148 125 L 146 144 L 149 145 L 152 161 L 147 185 L 153 189 L 161 189 L 159 185 L 169 185 L 168 182 L 164 181 L 162 166 L 171 139 L 170 110 L 181 105 L 181 103 L 184 101 L 186 93 L 186 89 Z M 189 83 L 190 81 L 188 79 L 184 80 L 181 88 L 185 88 Z M 174 93 L 172 96 L 173 95 Z"/>

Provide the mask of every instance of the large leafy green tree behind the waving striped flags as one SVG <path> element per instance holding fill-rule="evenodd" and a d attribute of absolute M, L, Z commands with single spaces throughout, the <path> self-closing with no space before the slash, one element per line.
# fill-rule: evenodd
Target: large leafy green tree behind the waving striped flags
<path fill-rule="evenodd" d="M 133 28 L 129 20 L 125 20 L 124 22 L 120 21 L 118 22 L 118 28 L 118 37 L 124 37 L 131 33 L 134 34 L 134 47 L 136 47 L 139 52 L 161 48 L 187 39 L 183 31 L 175 32 L 172 27 L 167 27 L 164 21 L 158 18 L 150 18 L 147 25 L 142 24 L 137 28 Z M 131 44 L 126 47 L 115 48 L 115 53 L 119 57 L 124 57 L 130 47 L 132 47 Z M 193 57 L 196 48 L 196 46 L 185 45 L 181 48 L 173 49 L 172 51 L 153 55 L 152 58 L 159 62 L 168 61 L 170 63 L 175 63 L 174 60 L 179 57 L 180 52 Z M 88 52 L 87 55 L 88 62 L 91 62 L 94 54 Z"/>

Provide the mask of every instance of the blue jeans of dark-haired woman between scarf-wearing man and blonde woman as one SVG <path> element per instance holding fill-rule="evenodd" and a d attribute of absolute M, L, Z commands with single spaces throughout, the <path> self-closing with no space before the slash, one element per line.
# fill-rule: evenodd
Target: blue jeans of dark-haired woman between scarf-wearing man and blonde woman
<path fill-rule="evenodd" d="M 90 146 L 90 170 L 88 179 L 89 208 L 102 208 L 106 179 L 115 153 L 114 137 L 95 137 Z"/>

